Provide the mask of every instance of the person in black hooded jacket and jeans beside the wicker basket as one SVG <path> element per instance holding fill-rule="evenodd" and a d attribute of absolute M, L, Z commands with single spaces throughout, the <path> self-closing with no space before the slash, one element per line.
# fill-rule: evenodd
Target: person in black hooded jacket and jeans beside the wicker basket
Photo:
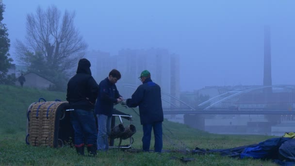
<path fill-rule="evenodd" d="M 67 83 L 66 100 L 71 109 L 74 109 L 70 117 L 75 133 L 75 147 L 80 155 L 84 155 L 84 145 L 90 155 L 97 154 L 97 128 L 93 110 L 98 96 L 98 84 L 91 76 L 90 66 L 87 59 L 80 59 L 77 74 Z"/>

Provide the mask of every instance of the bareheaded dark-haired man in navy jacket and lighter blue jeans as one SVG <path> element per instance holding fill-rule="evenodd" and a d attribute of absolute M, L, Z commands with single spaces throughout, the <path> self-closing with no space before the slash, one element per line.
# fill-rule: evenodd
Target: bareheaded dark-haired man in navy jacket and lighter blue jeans
<path fill-rule="evenodd" d="M 111 133 L 114 104 L 123 100 L 115 85 L 120 78 L 120 72 L 113 69 L 109 77 L 99 83 L 99 94 L 95 105 L 98 117 L 98 150 L 109 149 L 108 137 Z"/>

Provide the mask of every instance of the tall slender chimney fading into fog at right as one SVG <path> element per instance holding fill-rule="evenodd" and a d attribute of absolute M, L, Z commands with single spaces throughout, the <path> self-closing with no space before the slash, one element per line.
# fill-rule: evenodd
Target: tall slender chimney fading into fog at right
<path fill-rule="evenodd" d="M 264 26 L 264 70 L 263 85 L 272 85 L 271 79 L 271 45 L 270 45 L 270 27 Z M 272 88 L 264 88 L 264 93 L 272 93 Z"/>

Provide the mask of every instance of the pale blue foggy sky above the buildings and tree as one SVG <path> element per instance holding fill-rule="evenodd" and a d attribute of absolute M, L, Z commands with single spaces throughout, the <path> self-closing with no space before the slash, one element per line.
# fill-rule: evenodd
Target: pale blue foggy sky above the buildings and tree
<path fill-rule="evenodd" d="M 88 50 L 164 48 L 180 55 L 180 89 L 261 85 L 263 26 L 271 27 L 273 84 L 295 84 L 295 0 L 3 0 L 12 47 L 27 13 L 76 11 Z M 14 62 L 16 63 L 16 62 Z M 151 73 L 152 74 L 152 73 Z M 122 76 L 124 77 L 124 76 Z"/>

